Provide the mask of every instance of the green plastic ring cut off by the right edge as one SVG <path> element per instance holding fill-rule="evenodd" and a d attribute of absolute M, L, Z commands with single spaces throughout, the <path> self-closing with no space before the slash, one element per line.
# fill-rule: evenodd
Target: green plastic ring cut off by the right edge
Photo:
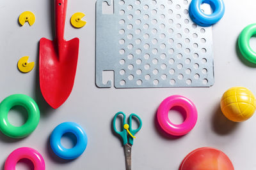
<path fill-rule="evenodd" d="M 256 24 L 248 25 L 243 29 L 239 38 L 238 46 L 241 54 L 246 60 L 256 64 L 256 52 L 254 52 L 250 46 L 250 38 L 256 34 Z"/>

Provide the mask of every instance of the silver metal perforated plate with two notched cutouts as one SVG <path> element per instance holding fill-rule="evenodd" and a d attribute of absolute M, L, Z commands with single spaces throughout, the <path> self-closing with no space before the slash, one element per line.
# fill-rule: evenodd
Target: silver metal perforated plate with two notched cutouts
<path fill-rule="evenodd" d="M 114 0 L 113 14 L 102 14 L 104 2 L 96 4 L 98 87 L 111 87 L 103 71 L 115 72 L 116 88 L 213 85 L 212 28 L 191 21 L 190 0 Z"/>

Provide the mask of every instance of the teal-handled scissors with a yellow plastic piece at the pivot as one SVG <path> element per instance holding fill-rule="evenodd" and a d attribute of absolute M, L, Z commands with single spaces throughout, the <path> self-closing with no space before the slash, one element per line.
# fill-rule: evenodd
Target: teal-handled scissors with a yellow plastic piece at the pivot
<path fill-rule="evenodd" d="M 123 124 L 122 124 L 123 131 L 116 130 L 116 117 L 118 115 L 123 115 Z M 137 118 L 137 120 L 140 124 L 138 129 L 132 129 L 132 117 Z M 123 139 L 124 154 L 125 154 L 125 167 L 126 167 L 126 170 L 131 170 L 131 167 L 132 167 L 131 152 L 132 152 L 133 138 L 136 138 L 134 135 L 138 131 L 140 131 L 141 126 L 142 126 L 142 121 L 141 121 L 141 118 L 138 117 L 138 115 L 136 115 L 134 113 L 132 113 L 129 116 L 128 124 L 126 124 L 125 118 L 126 118 L 125 114 L 122 111 L 119 111 L 118 113 L 116 113 L 114 120 L 113 120 L 113 128 L 114 128 L 114 131 L 116 132 L 116 134 L 119 134 Z M 127 137 L 129 138 L 129 141 L 128 141 Z"/>

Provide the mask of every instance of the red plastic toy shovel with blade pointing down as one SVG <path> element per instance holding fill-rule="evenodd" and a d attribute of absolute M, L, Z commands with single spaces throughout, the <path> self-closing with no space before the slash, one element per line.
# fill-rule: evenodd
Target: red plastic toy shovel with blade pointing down
<path fill-rule="evenodd" d="M 56 109 L 70 95 L 76 76 L 79 39 L 64 39 L 67 0 L 55 0 L 56 38 L 40 39 L 39 78 L 45 101 Z"/>

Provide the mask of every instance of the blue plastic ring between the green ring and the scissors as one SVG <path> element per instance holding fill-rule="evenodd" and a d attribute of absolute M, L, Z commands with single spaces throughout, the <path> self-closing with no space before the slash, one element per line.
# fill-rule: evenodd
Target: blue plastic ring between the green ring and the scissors
<path fill-rule="evenodd" d="M 77 138 L 77 143 L 73 148 L 67 149 L 61 145 L 63 134 L 71 132 Z M 50 143 L 53 152 L 62 159 L 75 159 L 79 157 L 87 146 L 87 136 L 84 129 L 74 122 L 64 122 L 58 125 L 51 134 Z"/>

